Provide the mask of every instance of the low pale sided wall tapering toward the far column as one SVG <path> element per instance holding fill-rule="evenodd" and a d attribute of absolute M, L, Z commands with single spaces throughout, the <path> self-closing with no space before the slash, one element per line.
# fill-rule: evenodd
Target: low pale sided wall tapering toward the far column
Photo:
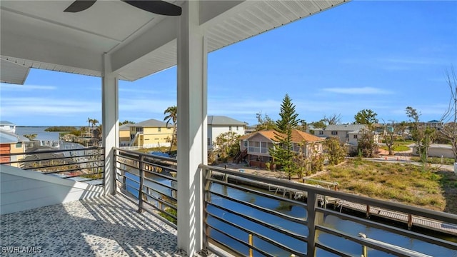
<path fill-rule="evenodd" d="M 2 165 L 0 214 L 101 196 L 104 189 L 86 183 Z"/>

